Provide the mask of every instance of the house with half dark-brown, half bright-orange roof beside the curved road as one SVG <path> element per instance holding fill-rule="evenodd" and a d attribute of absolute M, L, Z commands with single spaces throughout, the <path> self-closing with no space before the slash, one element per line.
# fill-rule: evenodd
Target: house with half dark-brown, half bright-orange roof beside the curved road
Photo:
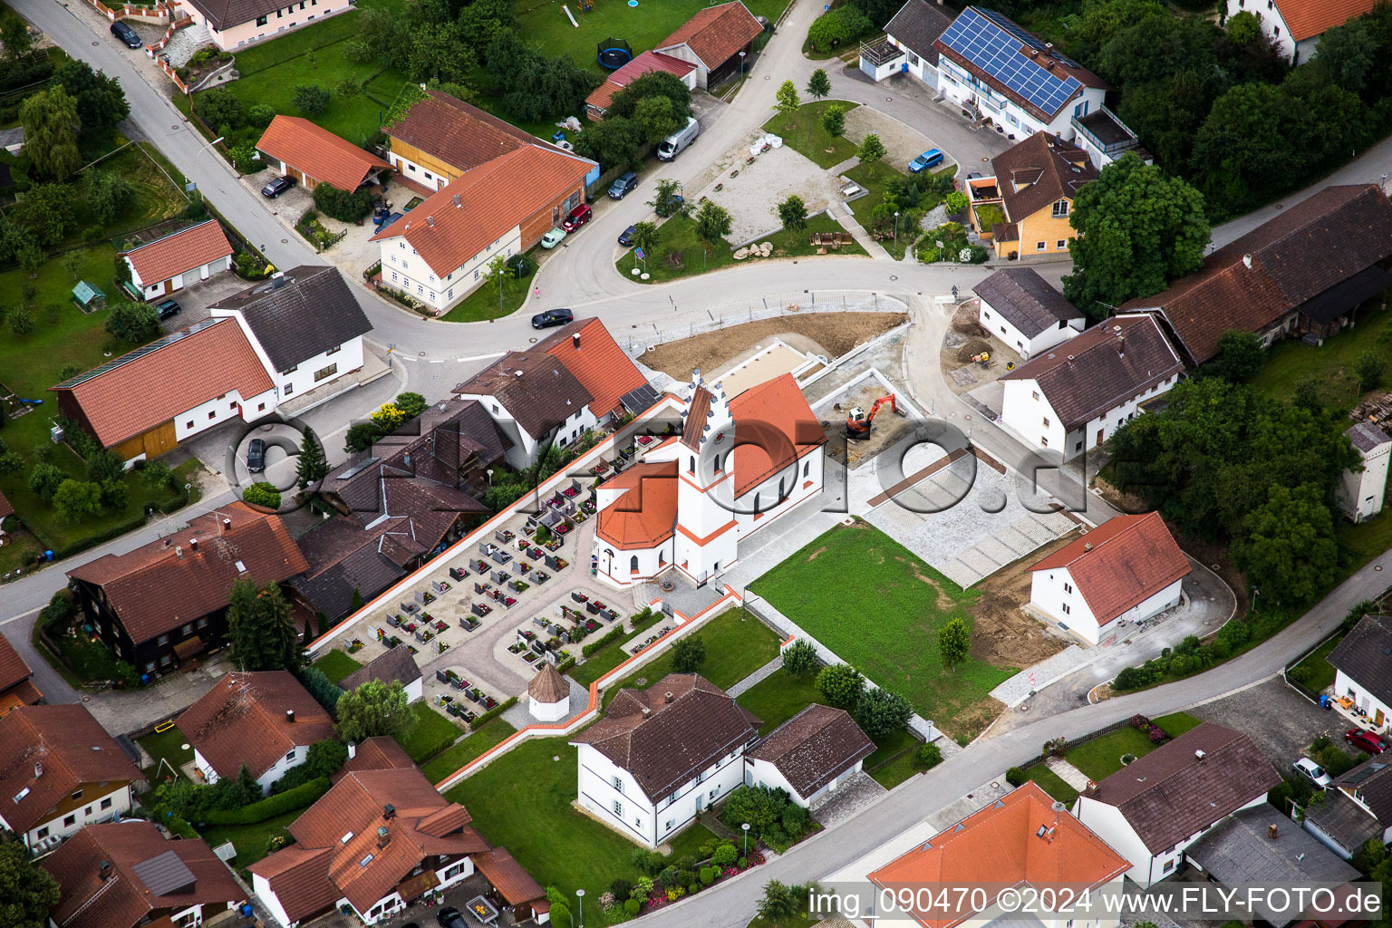
<path fill-rule="evenodd" d="M 647 378 L 599 319 L 578 319 L 532 345 L 511 351 L 451 392 L 475 399 L 507 434 L 508 463 L 526 467 L 550 444 L 561 448 L 646 397 Z M 638 403 L 635 403 L 638 405 Z"/>

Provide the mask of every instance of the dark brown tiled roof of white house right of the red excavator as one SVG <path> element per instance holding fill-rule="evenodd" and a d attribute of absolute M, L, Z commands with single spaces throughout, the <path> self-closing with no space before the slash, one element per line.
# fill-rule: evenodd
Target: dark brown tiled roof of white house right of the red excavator
<path fill-rule="evenodd" d="M 1066 430 L 1185 369 L 1147 314 L 1112 316 L 1037 355 L 1001 380 L 1034 380 Z"/>

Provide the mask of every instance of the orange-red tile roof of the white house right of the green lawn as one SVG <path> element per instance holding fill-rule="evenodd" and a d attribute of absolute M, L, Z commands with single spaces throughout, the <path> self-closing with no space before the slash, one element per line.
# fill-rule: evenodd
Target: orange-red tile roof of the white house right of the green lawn
<path fill-rule="evenodd" d="M 1189 561 L 1158 512 L 1115 516 L 1031 565 L 1068 568 L 1098 625 L 1189 576 Z"/>

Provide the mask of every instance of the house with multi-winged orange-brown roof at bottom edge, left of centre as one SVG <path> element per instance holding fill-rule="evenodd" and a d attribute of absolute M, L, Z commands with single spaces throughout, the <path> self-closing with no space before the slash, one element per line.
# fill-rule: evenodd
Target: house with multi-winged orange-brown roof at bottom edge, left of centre
<path fill-rule="evenodd" d="M 413 764 L 355 769 L 287 826 L 294 845 L 251 865 L 252 890 L 285 928 L 334 909 L 374 925 L 473 875 L 490 847 L 469 821 Z"/>

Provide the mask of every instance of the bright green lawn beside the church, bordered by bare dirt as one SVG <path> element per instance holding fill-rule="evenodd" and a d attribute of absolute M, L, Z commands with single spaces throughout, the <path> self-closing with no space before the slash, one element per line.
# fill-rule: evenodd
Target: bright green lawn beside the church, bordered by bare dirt
<path fill-rule="evenodd" d="M 831 529 L 750 589 L 958 739 L 995 718 L 990 691 L 1018 669 L 967 659 L 945 671 L 938 629 L 954 616 L 970 627 L 977 594 L 864 522 Z"/>

